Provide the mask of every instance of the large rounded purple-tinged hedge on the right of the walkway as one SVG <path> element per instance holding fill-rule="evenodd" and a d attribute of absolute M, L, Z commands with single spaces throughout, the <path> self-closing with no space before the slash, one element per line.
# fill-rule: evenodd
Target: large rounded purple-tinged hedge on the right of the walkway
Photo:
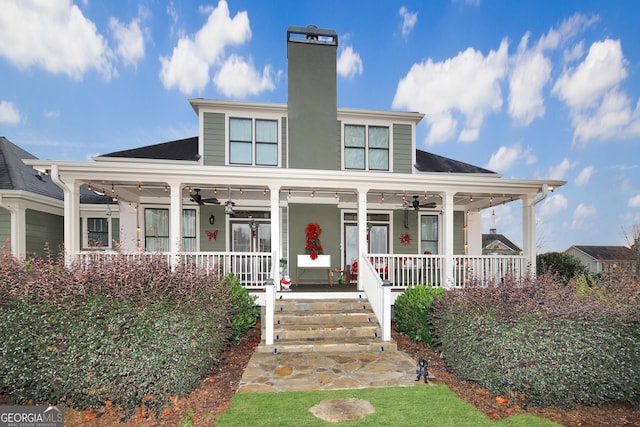
<path fill-rule="evenodd" d="M 447 293 L 434 326 L 458 378 L 534 406 L 640 405 L 638 278 L 578 292 L 573 281 Z"/>

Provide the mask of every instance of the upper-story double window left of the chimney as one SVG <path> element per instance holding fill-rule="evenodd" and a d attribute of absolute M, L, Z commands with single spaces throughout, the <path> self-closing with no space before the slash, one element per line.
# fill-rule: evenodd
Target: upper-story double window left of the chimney
<path fill-rule="evenodd" d="M 278 166 L 278 121 L 230 118 L 229 163 Z"/>

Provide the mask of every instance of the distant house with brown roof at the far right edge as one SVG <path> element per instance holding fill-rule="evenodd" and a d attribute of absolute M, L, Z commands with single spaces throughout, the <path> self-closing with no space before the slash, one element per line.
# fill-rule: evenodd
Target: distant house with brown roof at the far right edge
<path fill-rule="evenodd" d="M 626 246 L 574 245 L 564 251 L 580 260 L 594 274 L 612 270 L 638 271 L 638 253 Z"/>

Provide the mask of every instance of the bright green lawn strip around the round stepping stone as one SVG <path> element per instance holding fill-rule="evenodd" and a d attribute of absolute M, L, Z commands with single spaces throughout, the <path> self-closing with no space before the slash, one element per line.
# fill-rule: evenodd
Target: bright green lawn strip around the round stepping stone
<path fill-rule="evenodd" d="M 460 399 L 445 385 L 389 387 L 358 390 L 305 391 L 283 393 L 238 393 L 216 427 L 229 426 L 326 426 L 309 408 L 325 399 L 353 397 L 368 400 L 376 412 L 348 426 L 558 426 L 528 414 L 500 421 L 491 420 Z M 332 423 L 335 424 L 335 423 Z"/>

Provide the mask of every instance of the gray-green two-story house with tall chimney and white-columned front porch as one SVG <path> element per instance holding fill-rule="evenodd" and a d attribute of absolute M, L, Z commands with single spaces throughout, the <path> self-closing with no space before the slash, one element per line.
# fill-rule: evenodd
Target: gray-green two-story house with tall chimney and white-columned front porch
<path fill-rule="evenodd" d="M 418 149 L 421 113 L 338 107 L 337 48 L 333 30 L 289 27 L 288 102 L 190 99 L 197 137 L 93 161 L 27 157 L 64 193 L 67 256 L 89 259 L 110 247 L 91 248 L 82 225 L 107 218 L 104 206 L 85 208 L 83 192 L 94 192 L 117 203 L 101 224 L 123 251 L 233 271 L 260 296 L 267 327 L 285 272 L 279 260 L 300 283 L 351 271 L 385 337 L 390 289 L 463 286 L 535 266 L 535 207 L 565 182 L 505 179 Z M 516 200 L 523 254 L 487 262 L 481 211 Z M 306 253 L 310 224 L 322 231 L 318 258 Z"/>

